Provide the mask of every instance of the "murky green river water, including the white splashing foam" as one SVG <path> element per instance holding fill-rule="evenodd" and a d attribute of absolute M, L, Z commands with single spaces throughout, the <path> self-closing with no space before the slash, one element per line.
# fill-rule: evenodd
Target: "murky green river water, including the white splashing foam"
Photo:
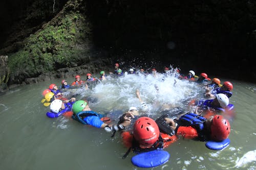
<path fill-rule="evenodd" d="M 93 75 L 98 77 L 98 75 Z M 142 113 L 156 118 L 168 106 L 173 115 L 191 111 L 188 102 L 202 99 L 202 88 L 196 83 L 178 80 L 173 76 L 157 78 L 125 75 L 91 84 L 89 90 L 71 89 L 68 97 L 86 98 L 93 111 L 118 120 L 122 112 L 135 106 L 140 110 L 135 91 L 148 104 Z M 209 76 L 210 77 L 210 76 Z M 82 80 L 86 76 L 81 76 Z M 256 85 L 227 78 L 233 83 L 230 103 L 234 116 L 230 121 L 230 144 L 222 151 L 205 147 L 205 142 L 180 138 L 164 149 L 170 154 L 168 162 L 151 169 L 255 169 L 256 168 Z M 73 79 L 67 79 L 72 83 Z M 176 82 L 175 82 L 176 81 Z M 43 106 L 41 92 L 61 79 L 16 87 L 0 99 L 0 169 L 144 169 L 134 166 L 119 133 L 82 125 L 70 117 L 49 118 Z M 155 86 L 158 87 L 158 91 Z M 251 152 L 250 152 L 251 151 Z"/>

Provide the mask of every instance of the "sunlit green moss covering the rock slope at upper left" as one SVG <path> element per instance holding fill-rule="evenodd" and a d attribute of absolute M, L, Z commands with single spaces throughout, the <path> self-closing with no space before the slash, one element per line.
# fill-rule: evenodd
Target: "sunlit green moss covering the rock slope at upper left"
<path fill-rule="evenodd" d="M 76 48 L 76 44 L 84 43 L 90 31 L 84 16 L 78 12 L 56 17 L 44 29 L 28 37 L 22 50 L 9 56 L 11 74 L 38 76 L 45 71 L 71 67 L 80 60 L 76 56 L 87 53 Z"/>

